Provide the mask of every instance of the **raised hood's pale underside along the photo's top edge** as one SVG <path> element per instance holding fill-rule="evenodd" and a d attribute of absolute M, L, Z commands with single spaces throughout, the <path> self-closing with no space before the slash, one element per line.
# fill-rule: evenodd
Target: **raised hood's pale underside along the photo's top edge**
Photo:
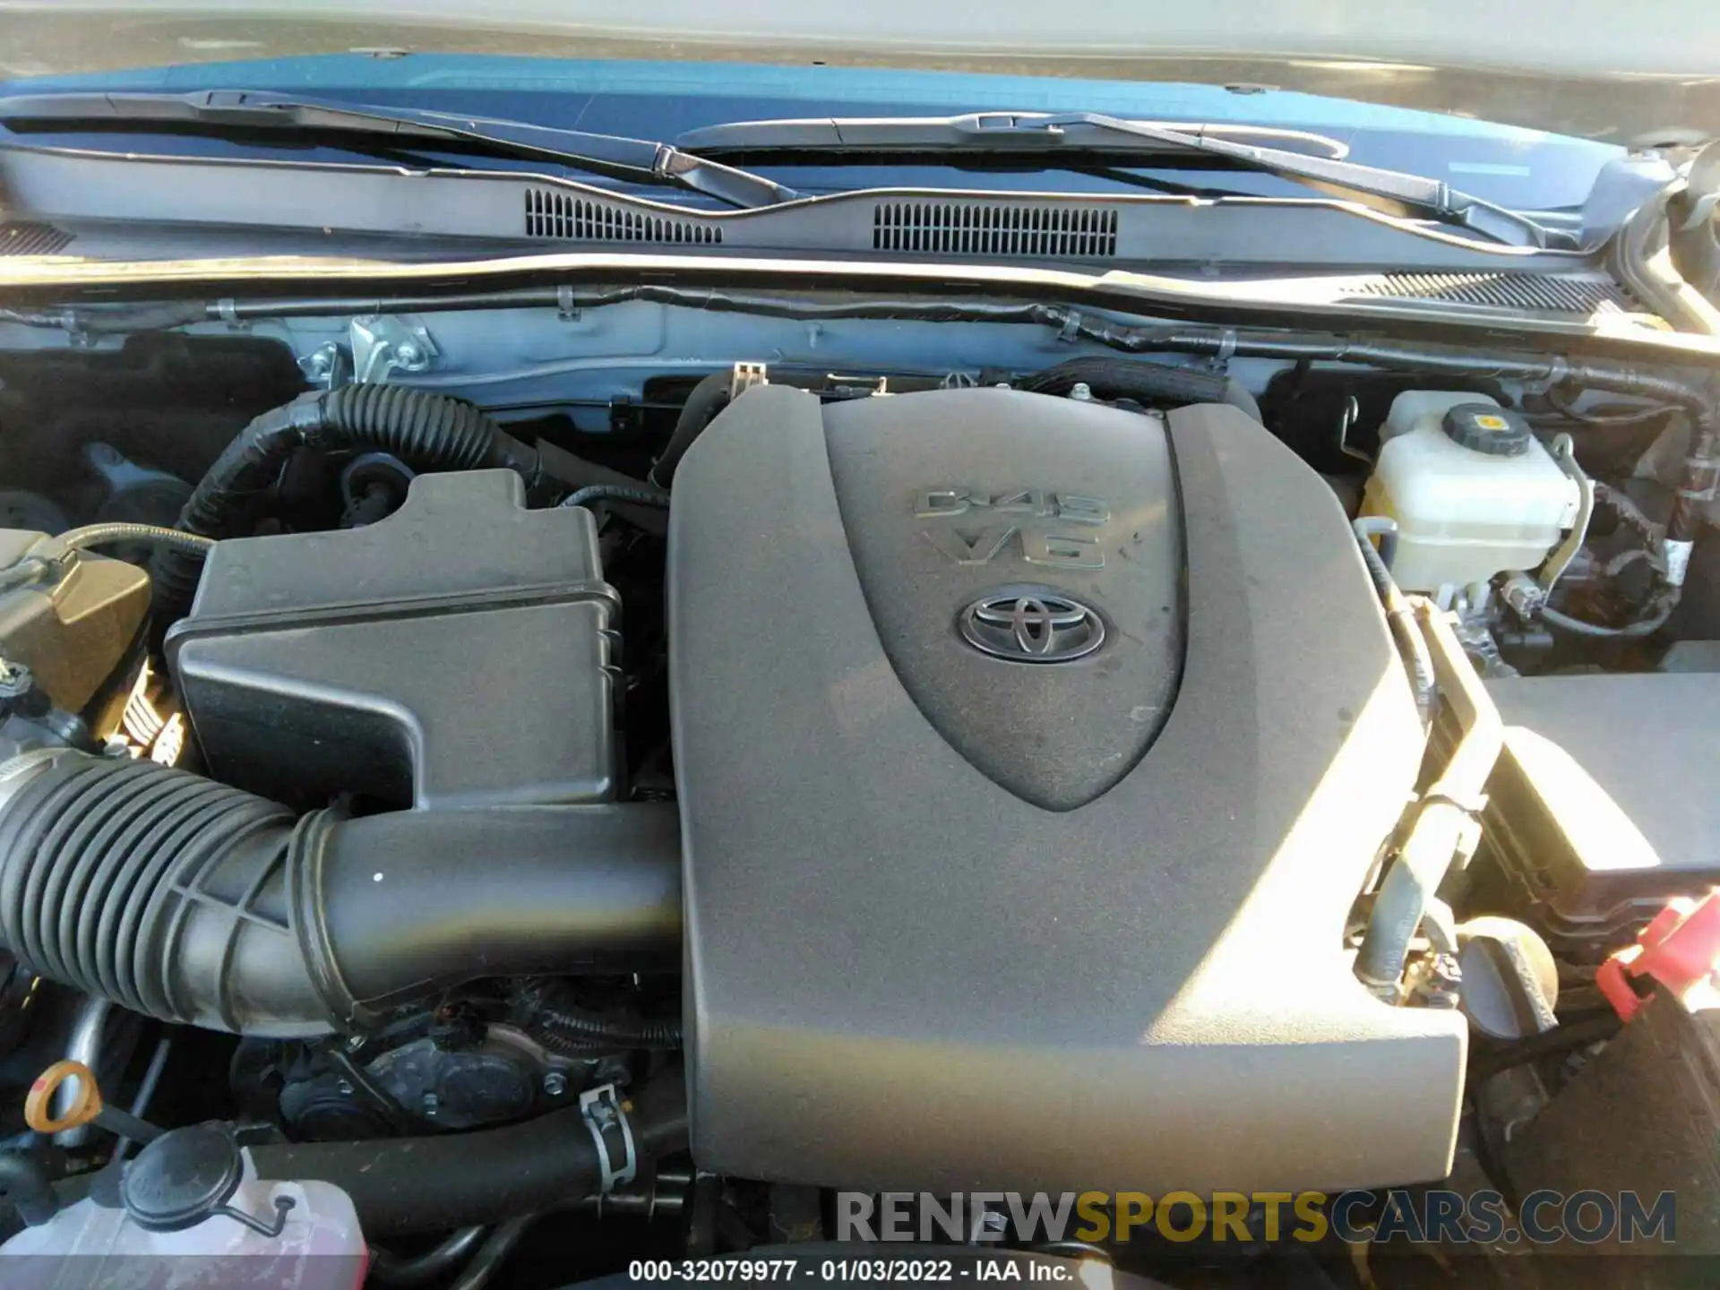
<path fill-rule="evenodd" d="M 673 58 L 1275 86 L 1612 143 L 1720 136 L 1710 0 L 0 0 L 0 14 L 7 79 L 353 50 Z"/>

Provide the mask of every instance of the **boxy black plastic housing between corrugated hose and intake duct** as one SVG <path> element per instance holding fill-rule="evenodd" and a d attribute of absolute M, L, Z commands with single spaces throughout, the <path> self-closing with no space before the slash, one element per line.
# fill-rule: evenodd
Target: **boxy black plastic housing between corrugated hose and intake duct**
<path fill-rule="evenodd" d="M 217 544 L 167 652 L 224 783 L 299 807 L 595 803 L 617 617 L 590 511 L 456 471 L 365 528 Z"/>

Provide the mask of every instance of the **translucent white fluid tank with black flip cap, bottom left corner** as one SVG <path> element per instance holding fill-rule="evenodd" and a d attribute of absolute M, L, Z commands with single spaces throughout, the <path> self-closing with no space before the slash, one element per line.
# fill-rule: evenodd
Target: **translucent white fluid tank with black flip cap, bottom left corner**
<path fill-rule="evenodd" d="M 114 1182 L 98 1178 L 86 1199 L 0 1245 L 0 1285 L 358 1290 L 365 1280 L 368 1250 L 346 1192 L 260 1180 L 227 1125 L 167 1132 Z"/>

